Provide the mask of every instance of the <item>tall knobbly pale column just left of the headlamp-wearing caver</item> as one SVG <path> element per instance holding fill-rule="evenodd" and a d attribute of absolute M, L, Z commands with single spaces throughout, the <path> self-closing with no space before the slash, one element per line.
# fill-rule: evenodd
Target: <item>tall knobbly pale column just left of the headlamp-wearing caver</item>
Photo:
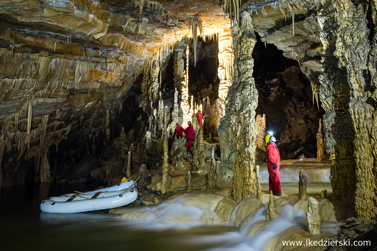
<path fill-rule="evenodd" d="M 240 29 L 237 22 L 234 22 L 232 37 L 234 82 L 229 88 L 225 118 L 236 151 L 233 166 L 233 196 L 236 202 L 240 202 L 244 198 L 256 195 L 257 191 L 254 142 L 257 132 L 255 109 L 258 93 L 252 77 L 254 60 L 251 58 L 256 38 L 249 13 L 242 14 Z"/>

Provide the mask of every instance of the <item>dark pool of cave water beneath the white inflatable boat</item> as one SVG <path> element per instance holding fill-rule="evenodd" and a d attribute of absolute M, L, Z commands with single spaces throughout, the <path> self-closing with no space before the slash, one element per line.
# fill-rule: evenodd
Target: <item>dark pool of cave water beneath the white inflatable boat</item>
<path fill-rule="evenodd" d="M 249 238 L 224 225 L 166 225 L 134 221 L 106 210 L 44 213 L 49 196 L 92 190 L 83 184 L 33 184 L 0 190 L 1 250 L 253 250 Z"/>

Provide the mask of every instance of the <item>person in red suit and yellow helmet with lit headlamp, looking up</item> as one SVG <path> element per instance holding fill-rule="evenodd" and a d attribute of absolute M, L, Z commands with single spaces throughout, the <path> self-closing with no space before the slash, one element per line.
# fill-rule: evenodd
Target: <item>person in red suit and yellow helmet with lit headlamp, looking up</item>
<path fill-rule="evenodd" d="M 280 165 L 280 152 L 275 144 L 276 138 L 273 136 L 272 132 L 269 132 L 265 137 L 267 145 L 267 170 L 268 170 L 268 184 L 270 186 L 270 191 L 276 196 L 281 196 L 282 191 L 280 188 L 280 170 L 282 166 Z"/>

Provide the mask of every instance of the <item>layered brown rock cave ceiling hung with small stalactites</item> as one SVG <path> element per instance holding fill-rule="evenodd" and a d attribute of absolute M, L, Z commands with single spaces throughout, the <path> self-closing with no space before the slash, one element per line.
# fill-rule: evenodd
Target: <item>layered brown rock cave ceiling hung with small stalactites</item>
<path fill-rule="evenodd" d="M 238 8 L 251 13 L 262 41 L 298 60 L 316 82 L 321 4 L 242 1 Z M 52 145 L 85 123 L 103 127 L 104 108 L 121 110 L 135 79 L 166 61 L 179 41 L 189 43 L 193 27 L 204 38 L 230 27 L 223 6 L 222 0 L 2 0 L 2 135 L 17 141 L 21 131 L 30 143 L 41 128 L 54 127 L 61 132 L 49 137 Z"/>

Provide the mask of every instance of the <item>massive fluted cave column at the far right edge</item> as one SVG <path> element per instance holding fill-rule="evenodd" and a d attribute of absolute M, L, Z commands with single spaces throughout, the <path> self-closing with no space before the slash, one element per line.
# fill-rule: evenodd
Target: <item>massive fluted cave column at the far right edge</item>
<path fill-rule="evenodd" d="M 318 21 L 325 49 L 320 95 L 326 111 L 326 149 L 332 160 L 333 203 L 342 218 L 356 214 L 370 219 L 377 212 L 377 114 L 367 102 L 371 96 L 366 74 L 371 48 L 366 6 L 332 0 L 324 5 Z"/>

